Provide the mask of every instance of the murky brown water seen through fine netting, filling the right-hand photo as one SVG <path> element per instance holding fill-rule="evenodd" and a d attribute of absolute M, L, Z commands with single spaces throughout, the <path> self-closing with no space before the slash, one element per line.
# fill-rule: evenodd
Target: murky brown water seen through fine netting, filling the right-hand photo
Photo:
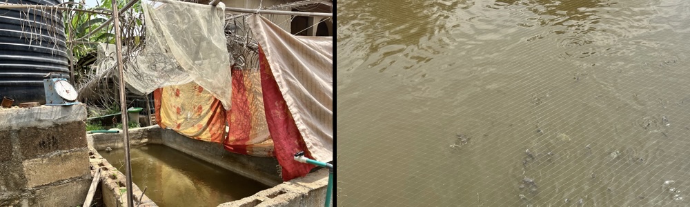
<path fill-rule="evenodd" d="M 690 2 L 338 1 L 337 206 L 690 206 Z"/>

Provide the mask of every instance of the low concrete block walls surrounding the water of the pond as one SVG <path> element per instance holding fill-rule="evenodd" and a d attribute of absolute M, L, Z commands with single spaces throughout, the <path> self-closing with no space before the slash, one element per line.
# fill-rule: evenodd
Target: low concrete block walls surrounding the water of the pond
<path fill-rule="evenodd" d="M 274 186 L 250 197 L 219 206 L 322 206 L 324 203 L 328 184 L 328 169 L 322 168 L 309 173 L 306 177 L 282 182 L 275 170 L 277 165 L 275 158 L 237 155 L 224 150 L 221 144 L 189 139 L 175 131 L 161 129 L 159 126 L 135 128 L 130 130 L 129 135 L 132 146 L 163 144 L 250 179 Z M 105 177 L 101 180 L 103 205 L 124 206 L 124 197 L 119 194 L 120 189 L 124 188 L 124 175 L 112 167 L 97 152 L 97 150 L 103 150 L 107 147 L 113 149 L 123 147 L 122 135 L 93 134 L 87 137 L 91 150 L 91 164 L 94 169 L 101 168 L 101 177 Z M 142 199 L 141 206 L 156 205 L 146 195 L 141 198 L 138 197 L 141 195 L 141 190 L 136 185 L 134 185 L 134 195 L 137 195 L 135 199 Z M 331 206 L 333 205 L 331 204 Z"/>

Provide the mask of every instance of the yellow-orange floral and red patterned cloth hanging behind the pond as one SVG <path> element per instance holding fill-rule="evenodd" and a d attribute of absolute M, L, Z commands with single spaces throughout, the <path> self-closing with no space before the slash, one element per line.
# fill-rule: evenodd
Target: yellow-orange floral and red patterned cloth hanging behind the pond
<path fill-rule="evenodd" d="M 232 74 L 232 90 L 235 94 L 231 101 L 235 106 L 227 111 L 213 96 L 204 94 L 203 97 L 199 97 L 195 93 L 184 92 L 189 89 L 186 85 L 193 85 L 196 89 L 201 88 L 195 83 L 166 86 L 154 90 L 157 124 L 161 128 L 171 128 L 192 139 L 221 142 L 230 152 L 256 157 L 275 157 L 273 141 L 270 139 L 268 124 L 266 124 L 259 70 L 232 70 Z M 184 122 L 189 122 L 184 116 L 190 111 L 190 107 L 186 105 L 199 99 L 206 101 L 199 103 L 200 106 L 191 105 L 195 106 L 191 108 L 195 111 L 194 114 L 198 112 L 195 109 L 199 108 L 202 110 L 209 108 L 212 114 L 208 116 L 208 121 L 202 120 L 204 123 L 193 125 L 201 126 L 201 128 L 183 128 L 182 126 L 186 125 Z M 227 137 L 224 137 L 226 123 L 230 130 Z M 204 126 L 208 127 L 204 128 Z"/>

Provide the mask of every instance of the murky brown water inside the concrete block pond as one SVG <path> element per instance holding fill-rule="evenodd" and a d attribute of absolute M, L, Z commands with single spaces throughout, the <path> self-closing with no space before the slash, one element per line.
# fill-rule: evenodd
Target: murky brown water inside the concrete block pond
<path fill-rule="evenodd" d="M 99 151 L 124 173 L 124 149 Z M 132 147 L 132 181 L 158 206 L 218 206 L 268 186 L 167 146 Z"/>

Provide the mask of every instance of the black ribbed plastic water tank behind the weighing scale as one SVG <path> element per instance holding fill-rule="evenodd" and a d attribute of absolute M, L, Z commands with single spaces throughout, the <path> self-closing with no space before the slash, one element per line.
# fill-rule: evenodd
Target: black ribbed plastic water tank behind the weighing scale
<path fill-rule="evenodd" d="M 6 0 L 56 6 L 59 0 Z M 46 103 L 43 77 L 69 78 L 62 12 L 0 9 L 0 98 Z"/>

